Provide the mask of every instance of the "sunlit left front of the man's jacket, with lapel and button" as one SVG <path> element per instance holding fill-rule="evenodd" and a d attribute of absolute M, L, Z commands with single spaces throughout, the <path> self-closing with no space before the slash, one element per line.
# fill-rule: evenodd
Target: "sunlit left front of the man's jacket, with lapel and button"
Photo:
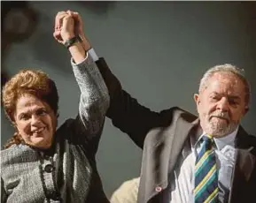
<path fill-rule="evenodd" d="M 143 162 L 153 164 L 151 166 L 148 165 L 146 169 L 144 168 L 146 166 L 143 164 L 142 168 L 141 183 L 147 185 L 140 185 L 139 199 L 144 199 L 144 202 L 167 201 L 168 191 L 166 189 L 168 185 L 168 175 L 175 169 L 175 163 L 182 153 L 182 147 L 190 135 L 191 129 L 197 124 L 197 122 L 191 122 L 192 119 L 196 119 L 194 116 L 187 116 L 188 119 L 186 119 L 186 114 L 179 116 L 180 117 L 177 117 L 175 122 L 175 127 L 174 125 L 170 125 L 167 128 L 159 129 L 157 132 L 151 131 L 147 135 L 147 139 L 151 137 L 151 140 L 147 141 L 155 144 L 154 147 L 151 147 L 151 150 L 146 147 L 147 144 L 144 144 Z M 149 157 L 146 157 L 149 154 L 151 154 L 151 161 L 148 160 Z M 151 168 L 151 172 L 149 172 L 149 168 Z M 150 178 L 149 174 L 145 175 L 143 171 L 148 171 L 153 177 Z M 144 178 L 147 179 L 147 181 L 145 181 Z M 141 188 L 141 186 L 143 187 Z M 147 188 L 146 191 L 144 191 L 143 188 Z M 146 198 L 140 197 L 143 193 Z"/>

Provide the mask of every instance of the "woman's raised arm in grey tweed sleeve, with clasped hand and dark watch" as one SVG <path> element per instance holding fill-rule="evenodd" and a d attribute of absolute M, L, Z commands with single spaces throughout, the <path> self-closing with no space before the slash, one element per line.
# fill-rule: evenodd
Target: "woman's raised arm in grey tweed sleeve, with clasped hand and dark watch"
<path fill-rule="evenodd" d="M 54 36 L 65 45 L 66 41 L 69 43 L 67 49 L 72 56 L 74 76 L 81 90 L 79 117 L 77 118 L 80 126 L 76 127 L 76 131 L 81 131 L 81 134 L 87 138 L 93 138 L 104 125 L 105 113 L 109 107 L 108 90 L 97 69 L 97 64 L 88 54 L 89 42 L 86 48 L 83 47 L 81 41 L 75 38 L 75 20 L 72 14 L 59 12 L 56 19 L 61 25 L 59 29 L 56 27 L 57 31 Z"/>

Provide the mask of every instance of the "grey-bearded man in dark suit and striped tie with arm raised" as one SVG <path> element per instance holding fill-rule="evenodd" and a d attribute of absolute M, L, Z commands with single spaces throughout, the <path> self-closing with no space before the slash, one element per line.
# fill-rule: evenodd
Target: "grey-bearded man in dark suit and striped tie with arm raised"
<path fill-rule="evenodd" d="M 256 201 L 256 138 L 240 125 L 250 102 L 244 71 L 230 64 L 206 71 L 194 95 L 196 117 L 142 106 L 93 49 L 91 56 L 109 90 L 106 116 L 144 149 L 139 203 Z"/>

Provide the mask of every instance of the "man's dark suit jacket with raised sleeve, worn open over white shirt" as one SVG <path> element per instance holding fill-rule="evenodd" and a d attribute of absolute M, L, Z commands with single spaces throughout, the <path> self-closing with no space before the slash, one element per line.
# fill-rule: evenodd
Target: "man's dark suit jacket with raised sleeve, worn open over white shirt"
<path fill-rule="evenodd" d="M 111 97 L 107 117 L 144 149 L 138 203 L 169 203 L 169 175 L 177 160 L 186 153 L 184 144 L 188 138 L 202 133 L 198 117 L 176 107 L 161 112 L 145 108 L 122 89 L 103 58 L 97 61 L 97 66 Z M 256 202 L 256 138 L 241 126 L 236 148 L 229 202 Z"/>

